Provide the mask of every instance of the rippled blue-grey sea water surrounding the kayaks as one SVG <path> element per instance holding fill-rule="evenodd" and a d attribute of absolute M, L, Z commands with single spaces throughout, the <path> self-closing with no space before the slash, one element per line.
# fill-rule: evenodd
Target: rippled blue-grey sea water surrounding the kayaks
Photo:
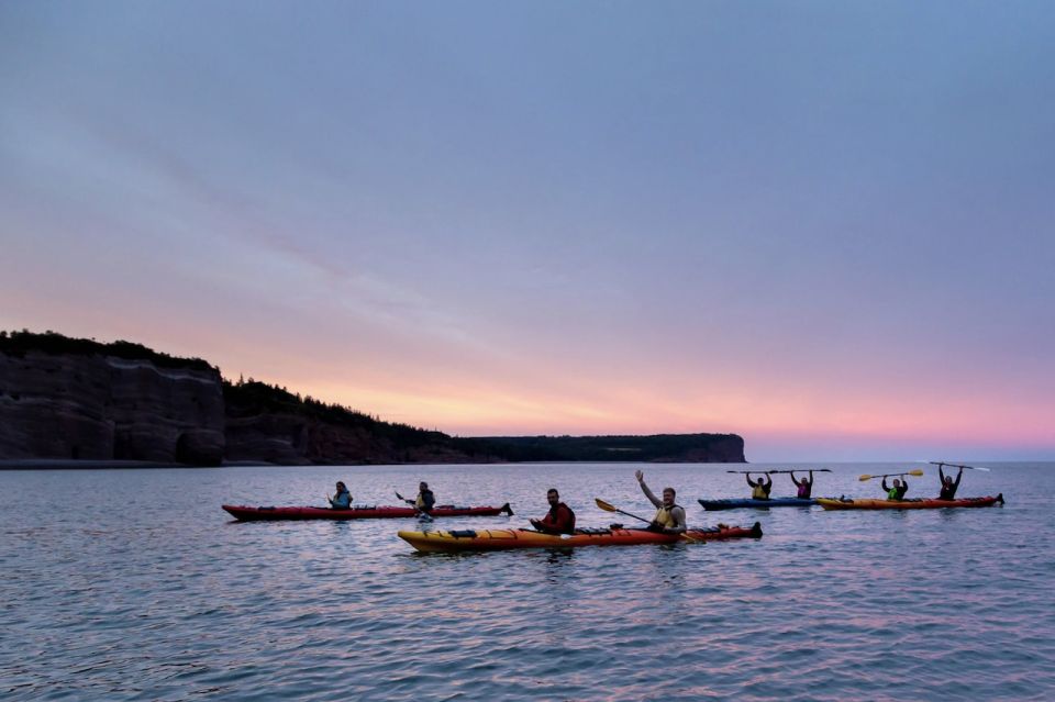
<path fill-rule="evenodd" d="M 903 513 L 707 513 L 696 498 L 746 495 L 741 477 L 645 466 L 690 524 L 765 537 L 462 556 L 414 554 L 396 537 L 414 520 L 240 524 L 220 504 L 318 504 L 336 479 L 390 504 L 421 477 L 517 512 L 441 528 L 526 525 L 549 486 L 602 526 L 595 497 L 651 514 L 636 466 L 0 471 L 0 697 L 1053 700 L 1055 464 L 989 465 L 960 494 L 1004 508 Z M 814 493 L 878 497 L 857 476 L 895 468 L 834 466 Z"/>

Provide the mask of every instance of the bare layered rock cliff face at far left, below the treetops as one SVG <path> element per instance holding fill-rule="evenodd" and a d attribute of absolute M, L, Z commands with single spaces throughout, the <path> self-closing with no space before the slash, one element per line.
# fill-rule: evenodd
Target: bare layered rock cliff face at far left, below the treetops
<path fill-rule="evenodd" d="M 0 353 L 0 458 L 219 465 L 224 448 L 216 369 Z"/>

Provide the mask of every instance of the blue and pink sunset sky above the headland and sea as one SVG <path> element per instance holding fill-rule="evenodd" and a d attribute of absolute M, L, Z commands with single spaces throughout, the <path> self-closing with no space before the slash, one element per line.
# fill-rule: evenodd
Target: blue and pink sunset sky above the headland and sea
<path fill-rule="evenodd" d="M 1055 457 L 1055 4 L 0 2 L 0 328 L 462 435 Z"/>

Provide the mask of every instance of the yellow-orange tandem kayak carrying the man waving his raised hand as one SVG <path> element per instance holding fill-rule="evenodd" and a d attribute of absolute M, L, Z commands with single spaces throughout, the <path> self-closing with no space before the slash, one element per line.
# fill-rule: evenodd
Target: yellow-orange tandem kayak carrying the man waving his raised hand
<path fill-rule="evenodd" d="M 399 532 L 399 537 L 422 553 L 462 550 L 507 550 L 512 548 L 577 548 L 579 546 L 634 546 L 676 544 L 725 538 L 759 538 L 762 524 L 748 528 L 719 526 L 690 528 L 685 535 L 662 534 L 643 528 L 584 528 L 575 534 L 543 534 L 526 528 L 458 530 L 452 532 Z"/>

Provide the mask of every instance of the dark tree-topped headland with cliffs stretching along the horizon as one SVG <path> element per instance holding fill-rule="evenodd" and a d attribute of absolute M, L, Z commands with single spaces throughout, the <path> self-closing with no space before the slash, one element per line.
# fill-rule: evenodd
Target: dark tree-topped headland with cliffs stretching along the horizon
<path fill-rule="evenodd" d="M 23 330 L 0 332 L 0 461 L 219 466 L 745 458 L 744 439 L 736 434 L 451 436 L 252 378 L 231 381 L 201 358 Z"/>

